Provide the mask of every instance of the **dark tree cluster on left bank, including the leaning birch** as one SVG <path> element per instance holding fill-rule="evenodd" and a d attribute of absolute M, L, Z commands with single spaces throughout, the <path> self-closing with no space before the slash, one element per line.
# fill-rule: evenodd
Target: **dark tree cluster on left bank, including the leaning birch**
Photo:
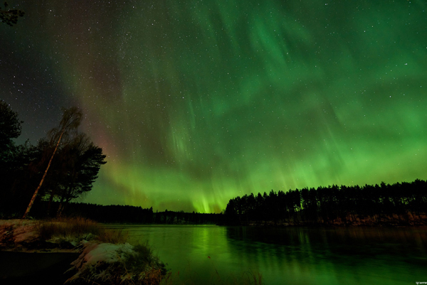
<path fill-rule="evenodd" d="M 92 189 L 106 161 L 102 149 L 78 131 L 82 118 L 77 107 L 63 109 L 58 127 L 38 144 L 16 145 L 23 122 L 0 101 L 1 216 L 26 217 L 33 203 L 42 201 L 48 205 L 46 215 L 61 215 L 65 205 Z"/>

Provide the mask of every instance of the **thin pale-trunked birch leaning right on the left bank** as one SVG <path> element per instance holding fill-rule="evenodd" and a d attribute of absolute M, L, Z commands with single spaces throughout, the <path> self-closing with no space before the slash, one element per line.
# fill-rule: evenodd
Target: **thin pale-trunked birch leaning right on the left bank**
<path fill-rule="evenodd" d="M 51 159 L 49 160 L 48 166 L 46 167 L 46 170 L 43 173 L 43 177 L 41 178 L 41 181 L 38 184 L 36 191 L 34 192 L 33 197 L 31 198 L 30 203 L 28 204 L 25 214 L 23 214 L 23 217 L 22 217 L 23 219 L 25 219 L 28 216 L 28 213 L 30 212 L 31 207 L 33 206 L 34 200 L 36 200 L 38 190 L 40 190 L 41 185 L 43 185 L 43 181 L 46 178 L 46 174 L 48 173 L 49 167 L 51 167 L 53 156 L 55 156 L 61 140 L 65 141 L 65 144 L 66 144 L 67 141 L 70 141 L 70 137 L 77 135 L 77 129 L 80 126 L 80 122 L 82 121 L 82 118 L 83 118 L 83 114 L 77 107 L 70 107 L 69 109 L 63 109 L 63 117 L 60 120 L 59 126 L 49 131 L 49 134 L 48 134 L 48 136 L 50 137 L 49 146 L 53 146 L 55 144 L 56 146 L 55 146 L 55 149 L 53 149 Z M 51 149 L 51 147 L 49 147 L 48 149 Z"/>

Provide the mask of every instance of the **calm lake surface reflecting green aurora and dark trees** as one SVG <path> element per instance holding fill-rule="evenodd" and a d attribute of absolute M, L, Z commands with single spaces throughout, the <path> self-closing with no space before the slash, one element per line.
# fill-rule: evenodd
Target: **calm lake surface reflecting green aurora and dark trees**
<path fill-rule="evenodd" d="M 148 241 L 174 273 L 201 281 L 259 271 L 266 285 L 427 282 L 426 227 L 106 227 Z"/>

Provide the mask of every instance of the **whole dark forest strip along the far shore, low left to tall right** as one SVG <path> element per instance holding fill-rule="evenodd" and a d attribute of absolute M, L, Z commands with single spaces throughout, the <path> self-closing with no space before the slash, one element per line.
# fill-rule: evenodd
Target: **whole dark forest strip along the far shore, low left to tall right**
<path fill-rule="evenodd" d="M 88 217 L 97 222 L 167 225 L 427 225 L 427 182 L 303 188 L 243 195 L 229 200 L 223 213 L 154 212 L 131 205 L 69 203 L 67 216 Z M 53 203 L 53 208 L 58 208 Z M 33 210 L 45 217 L 48 202 Z"/>

